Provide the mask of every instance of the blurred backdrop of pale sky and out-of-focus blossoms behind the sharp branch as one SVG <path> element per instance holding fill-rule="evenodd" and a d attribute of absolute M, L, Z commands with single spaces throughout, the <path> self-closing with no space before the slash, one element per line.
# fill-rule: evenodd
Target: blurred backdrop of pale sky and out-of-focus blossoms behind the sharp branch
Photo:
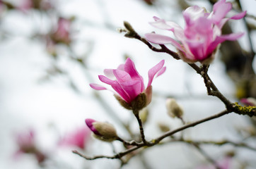
<path fill-rule="evenodd" d="M 98 75 L 105 68 L 117 68 L 127 57 L 132 58 L 145 84 L 147 71 L 153 65 L 165 59 L 167 67 L 153 81 L 153 99 L 144 124 L 146 139 L 163 133 L 159 124 L 169 129 L 182 125 L 179 119 L 167 115 L 168 97 L 175 98 L 184 108 L 187 123 L 222 111 L 225 106 L 206 95 L 202 78 L 189 65 L 168 54 L 153 52 L 117 31 L 126 20 L 141 36 L 152 31 L 170 35 L 149 25 L 153 16 L 173 20 L 183 27 L 182 10 L 198 5 L 211 11 L 214 2 L 0 0 L 0 168 L 120 168 L 118 160 L 86 161 L 71 150 L 88 156 L 112 155 L 113 146 L 116 152 L 124 150 L 120 142 L 110 144 L 91 137 L 84 123 L 86 118 L 112 123 L 124 139 L 130 138 L 127 126 L 139 133 L 132 113 L 122 108 L 111 92 L 97 92 L 89 87 L 91 82 L 100 82 Z M 228 99 L 239 101 L 256 97 L 256 1 L 231 2 L 230 15 L 245 10 L 248 15 L 244 20 L 228 23 L 223 34 L 233 31 L 245 35 L 239 42 L 222 44 L 209 75 Z M 168 48 L 175 50 L 173 46 Z M 228 139 L 256 147 L 255 120 L 232 113 L 182 134 L 185 139 Z M 228 156 L 230 168 L 256 168 L 255 150 L 231 144 L 200 147 L 218 163 Z M 145 149 L 122 166 L 212 167 L 198 149 L 182 142 Z"/>

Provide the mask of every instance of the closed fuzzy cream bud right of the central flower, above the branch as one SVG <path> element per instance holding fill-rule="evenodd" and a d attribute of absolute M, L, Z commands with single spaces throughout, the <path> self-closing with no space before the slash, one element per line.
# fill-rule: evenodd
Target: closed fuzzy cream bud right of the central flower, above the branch
<path fill-rule="evenodd" d="M 166 100 L 166 108 L 167 108 L 167 113 L 170 115 L 172 118 L 181 118 L 183 115 L 183 110 L 182 108 L 177 104 L 175 99 L 167 99 Z"/>

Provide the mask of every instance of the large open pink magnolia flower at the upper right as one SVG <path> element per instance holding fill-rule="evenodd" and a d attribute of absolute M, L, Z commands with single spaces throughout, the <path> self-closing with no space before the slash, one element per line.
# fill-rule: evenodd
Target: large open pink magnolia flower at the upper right
<path fill-rule="evenodd" d="M 153 17 L 155 20 L 154 23 L 151 23 L 153 27 L 172 31 L 176 39 L 154 33 L 146 34 L 146 39 L 155 44 L 173 44 L 180 51 L 181 58 L 186 62 L 202 62 L 206 61 L 207 58 L 211 61 L 219 44 L 225 40 L 236 40 L 243 35 L 241 32 L 221 35 L 221 28 L 226 21 L 238 20 L 246 14 L 244 11 L 231 18 L 225 18 L 231 8 L 232 4 L 226 0 L 214 4 L 211 13 L 207 13 L 204 8 L 199 6 L 190 6 L 183 11 L 184 30 L 176 23 Z"/>

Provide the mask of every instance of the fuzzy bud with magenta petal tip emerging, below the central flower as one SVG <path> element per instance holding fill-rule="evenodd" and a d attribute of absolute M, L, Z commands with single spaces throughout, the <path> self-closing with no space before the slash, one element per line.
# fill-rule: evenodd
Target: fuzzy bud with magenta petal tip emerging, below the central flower
<path fill-rule="evenodd" d="M 94 133 L 96 139 L 100 139 L 105 142 L 112 142 L 117 139 L 117 131 L 115 127 L 110 123 L 98 122 L 93 119 L 87 118 L 86 125 Z"/>

